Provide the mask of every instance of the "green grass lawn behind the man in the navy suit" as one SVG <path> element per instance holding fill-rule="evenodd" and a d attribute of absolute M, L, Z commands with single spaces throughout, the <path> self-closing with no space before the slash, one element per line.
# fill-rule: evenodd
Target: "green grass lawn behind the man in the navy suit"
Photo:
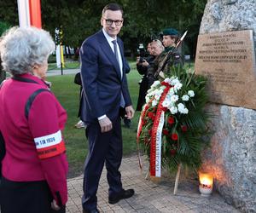
<path fill-rule="evenodd" d="M 127 75 L 133 107 L 137 106 L 138 81 L 141 76 L 137 73 L 136 64 L 131 65 L 131 72 Z M 61 105 L 67 110 L 67 124 L 63 132 L 66 147 L 67 158 L 69 162 L 69 177 L 79 176 L 83 172 L 84 159 L 88 151 L 87 141 L 84 135 L 84 129 L 74 128 L 74 124 L 79 121 L 77 113 L 79 110 L 79 85 L 73 83 L 74 75 L 63 75 L 49 77 L 48 80 L 53 83 L 52 91 L 61 102 Z M 123 128 L 124 156 L 137 153 L 136 130 L 139 112 L 131 122 L 131 129 Z"/>

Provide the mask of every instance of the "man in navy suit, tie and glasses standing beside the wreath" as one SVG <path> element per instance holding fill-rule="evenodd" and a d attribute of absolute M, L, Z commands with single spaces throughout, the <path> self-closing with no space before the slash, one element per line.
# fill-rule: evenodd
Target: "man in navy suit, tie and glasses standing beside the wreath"
<path fill-rule="evenodd" d="M 84 212 L 99 212 L 96 191 L 104 163 L 109 185 L 108 203 L 115 204 L 134 194 L 133 189 L 122 187 L 119 172 L 123 150 L 119 108 L 125 108 L 129 119 L 134 110 L 125 76 L 129 65 L 123 43 L 117 37 L 123 26 L 123 10 L 118 4 L 105 6 L 101 24 L 102 30 L 85 39 L 80 49 L 84 100 L 81 119 L 87 125 L 89 141 L 84 168 Z"/>

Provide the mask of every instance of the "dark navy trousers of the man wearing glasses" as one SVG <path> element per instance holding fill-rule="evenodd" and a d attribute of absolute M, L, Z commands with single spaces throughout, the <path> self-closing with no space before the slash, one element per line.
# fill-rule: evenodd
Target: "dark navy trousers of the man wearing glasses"
<path fill-rule="evenodd" d="M 89 141 L 89 153 L 84 168 L 84 210 L 96 209 L 100 177 L 104 163 L 107 169 L 108 196 L 119 193 L 122 188 L 119 166 L 123 155 L 123 141 L 120 118 L 113 121 L 113 129 L 102 133 L 98 123 L 88 124 L 86 136 Z"/>

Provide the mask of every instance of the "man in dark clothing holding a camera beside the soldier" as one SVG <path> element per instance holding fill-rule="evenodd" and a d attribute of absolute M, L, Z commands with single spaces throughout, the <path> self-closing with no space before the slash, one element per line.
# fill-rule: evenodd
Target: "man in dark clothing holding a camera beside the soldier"
<path fill-rule="evenodd" d="M 150 55 L 140 62 L 139 58 L 137 59 L 137 72 L 143 75 L 142 81 L 140 82 L 139 95 L 137 99 L 137 111 L 142 111 L 143 105 L 145 104 L 145 96 L 147 95 L 148 90 L 148 67 L 154 61 L 154 59 L 162 53 L 164 46 L 160 40 L 153 40 L 150 43 Z"/>

